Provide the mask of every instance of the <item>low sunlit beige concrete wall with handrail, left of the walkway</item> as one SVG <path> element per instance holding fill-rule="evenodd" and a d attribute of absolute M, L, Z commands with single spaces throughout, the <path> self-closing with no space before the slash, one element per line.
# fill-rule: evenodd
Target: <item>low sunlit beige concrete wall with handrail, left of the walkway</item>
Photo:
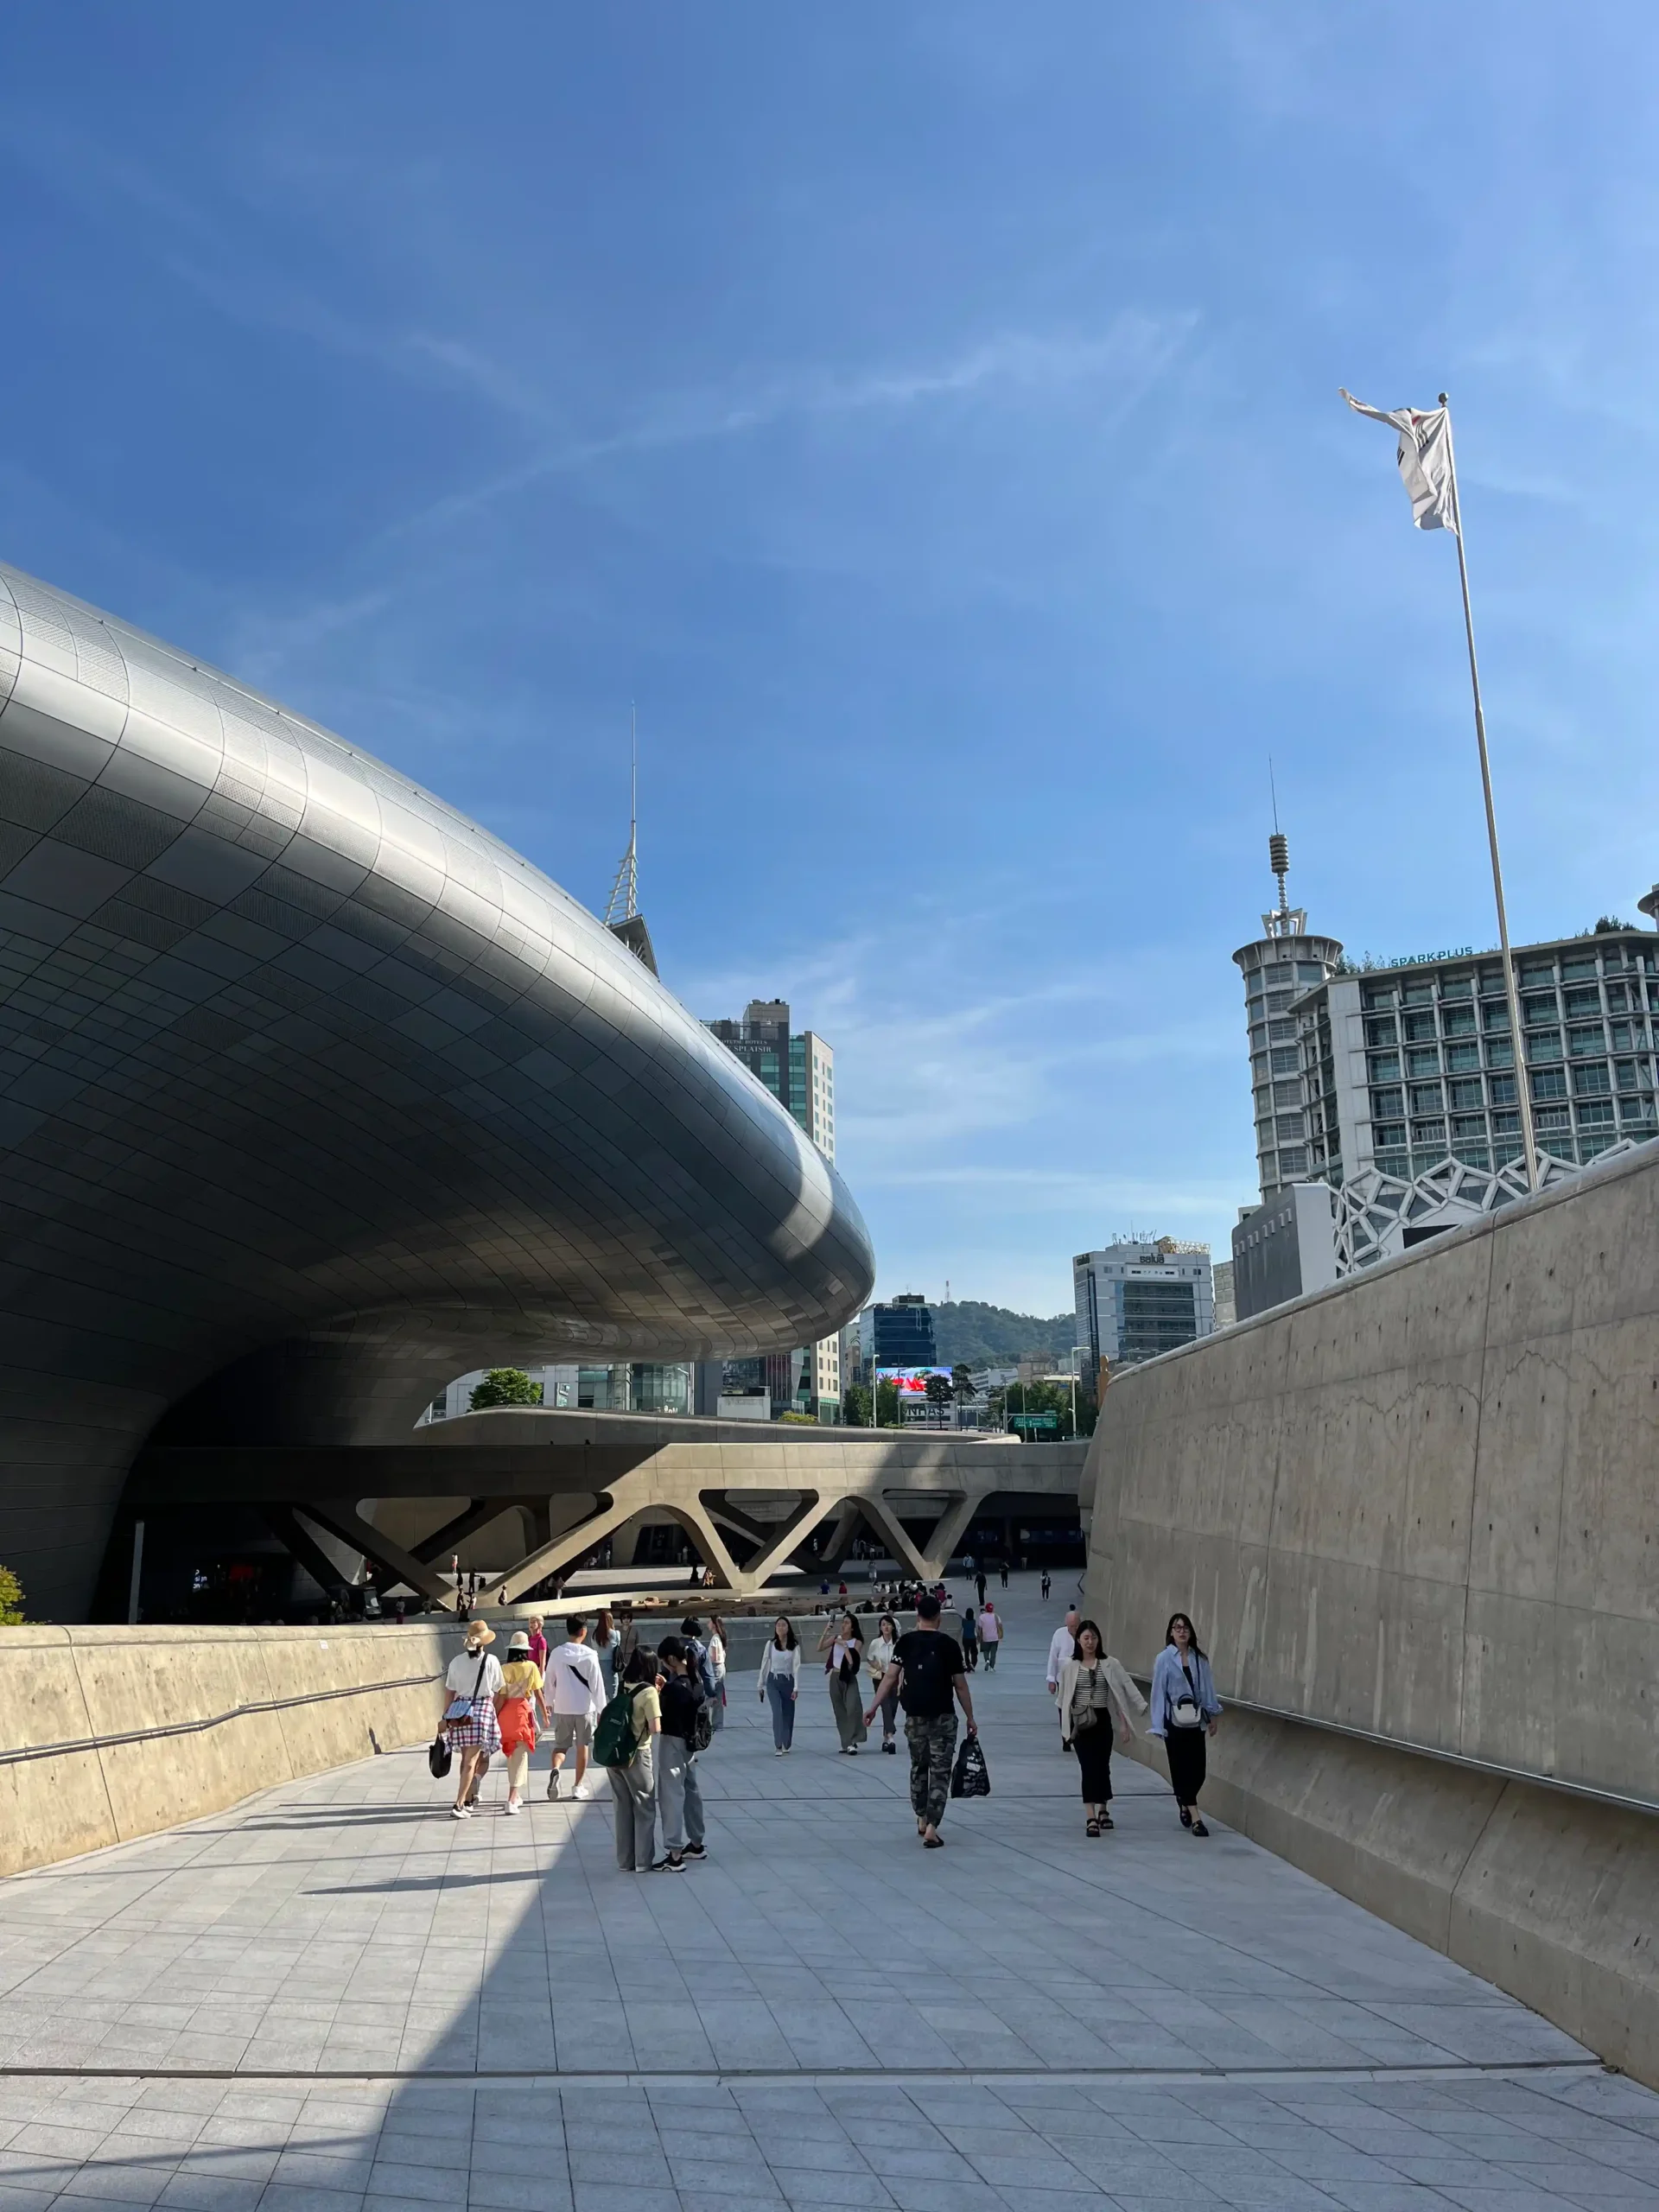
<path fill-rule="evenodd" d="M 0 1874 L 431 1736 L 458 1641 L 436 1624 L 0 1628 Z"/>

